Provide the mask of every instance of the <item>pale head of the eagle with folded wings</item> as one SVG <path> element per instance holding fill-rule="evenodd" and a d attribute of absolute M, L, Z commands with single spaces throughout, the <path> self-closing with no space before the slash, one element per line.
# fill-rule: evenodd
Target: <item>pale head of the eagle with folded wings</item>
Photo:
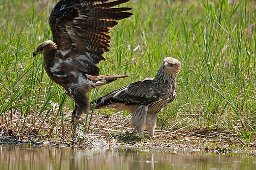
<path fill-rule="evenodd" d="M 166 72 L 178 74 L 181 64 L 179 60 L 172 57 L 167 57 L 163 60 L 162 66 L 163 70 L 165 70 Z"/>

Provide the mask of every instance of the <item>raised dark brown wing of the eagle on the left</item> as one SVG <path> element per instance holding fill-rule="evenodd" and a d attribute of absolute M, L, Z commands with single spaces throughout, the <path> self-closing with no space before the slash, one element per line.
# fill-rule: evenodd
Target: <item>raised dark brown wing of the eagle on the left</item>
<path fill-rule="evenodd" d="M 53 41 L 57 44 L 55 57 L 69 59 L 69 64 L 72 62 L 71 65 L 81 70 L 106 60 L 103 54 L 109 51 L 110 29 L 118 24 L 116 20 L 132 15 L 123 12 L 131 8 L 111 8 L 129 0 L 106 1 L 60 0 L 57 3 L 49 18 Z M 97 72 L 94 75 L 99 75 L 99 69 L 93 70 Z"/>

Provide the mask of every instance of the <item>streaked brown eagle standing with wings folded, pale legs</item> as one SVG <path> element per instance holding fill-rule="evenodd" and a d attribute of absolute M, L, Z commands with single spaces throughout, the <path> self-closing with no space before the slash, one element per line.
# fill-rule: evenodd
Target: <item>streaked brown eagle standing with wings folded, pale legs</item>
<path fill-rule="evenodd" d="M 115 108 L 133 113 L 131 127 L 143 138 L 144 129 L 154 136 L 158 112 L 175 99 L 180 62 L 167 57 L 154 78 L 141 79 L 96 99 L 95 108 Z M 93 103 L 92 103 L 93 104 Z M 92 107 L 92 106 L 91 106 Z"/>

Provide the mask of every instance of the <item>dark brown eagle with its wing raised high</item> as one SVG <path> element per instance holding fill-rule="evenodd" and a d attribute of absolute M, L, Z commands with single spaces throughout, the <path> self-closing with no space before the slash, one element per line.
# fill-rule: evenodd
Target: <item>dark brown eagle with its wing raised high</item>
<path fill-rule="evenodd" d="M 33 52 L 44 55 L 44 68 L 52 81 L 65 88 L 75 102 L 74 130 L 79 118 L 89 109 L 87 93 L 120 77 L 99 75 L 99 62 L 106 61 L 111 28 L 132 14 L 131 8 L 111 8 L 129 0 L 60 0 L 49 17 L 53 41 L 41 43 Z M 80 122 L 81 123 L 81 122 Z"/>

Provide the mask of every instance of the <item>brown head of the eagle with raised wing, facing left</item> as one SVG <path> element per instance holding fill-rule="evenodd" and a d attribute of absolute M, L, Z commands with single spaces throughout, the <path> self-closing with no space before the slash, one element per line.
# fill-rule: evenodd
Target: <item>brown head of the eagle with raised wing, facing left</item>
<path fill-rule="evenodd" d="M 42 42 L 38 46 L 38 48 L 36 48 L 36 50 L 33 52 L 33 57 L 35 57 L 38 54 L 45 55 L 47 52 L 50 52 L 52 50 L 56 51 L 56 49 L 57 49 L 57 45 L 54 42 L 52 42 L 50 40 Z"/>

